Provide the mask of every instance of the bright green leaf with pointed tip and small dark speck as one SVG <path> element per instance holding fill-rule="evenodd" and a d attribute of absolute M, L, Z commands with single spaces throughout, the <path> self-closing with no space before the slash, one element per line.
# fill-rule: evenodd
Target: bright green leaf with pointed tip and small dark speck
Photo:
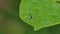
<path fill-rule="evenodd" d="M 22 0 L 19 15 L 36 31 L 60 24 L 60 4 L 58 0 Z"/>

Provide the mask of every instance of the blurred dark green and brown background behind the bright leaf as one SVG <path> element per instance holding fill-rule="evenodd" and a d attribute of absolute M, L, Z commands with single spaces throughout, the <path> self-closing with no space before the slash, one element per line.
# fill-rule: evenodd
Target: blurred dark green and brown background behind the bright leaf
<path fill-rule="evenodd" d="M 60 24 L 33 31 L 19 17 L 21 0 L 0 0 L 0 34 L 60 34 Z"/>

